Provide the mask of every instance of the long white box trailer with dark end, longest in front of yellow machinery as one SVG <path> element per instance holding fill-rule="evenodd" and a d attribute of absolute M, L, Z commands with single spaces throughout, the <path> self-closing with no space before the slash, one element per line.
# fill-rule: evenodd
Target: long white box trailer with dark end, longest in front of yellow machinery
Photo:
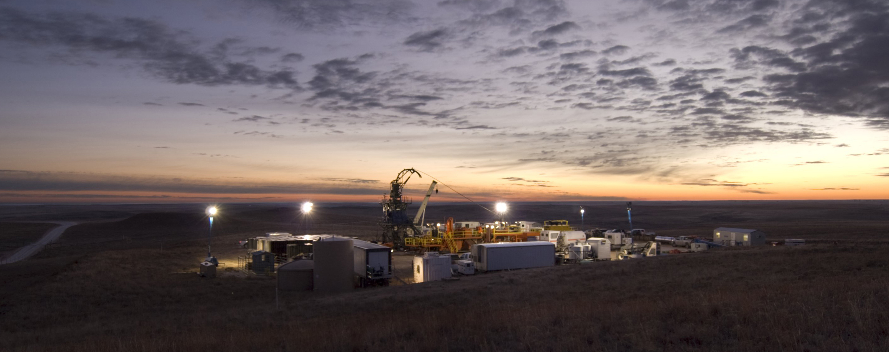
<path fill-rule="evenodd" d="M 469 249 L 478 271 L 541 268 L 556 265 L 556 244 L 552 242 L 512 242 L 473 244 Z"/>

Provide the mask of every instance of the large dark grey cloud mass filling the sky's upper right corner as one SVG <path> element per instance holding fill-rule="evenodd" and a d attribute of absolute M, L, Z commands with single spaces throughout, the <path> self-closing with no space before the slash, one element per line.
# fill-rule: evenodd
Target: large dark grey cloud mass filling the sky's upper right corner
<path fill-rule="evenodd" d="M 822 12 L 821 17 L 829 23 L 844 23 L 845 28 L 831 36 L 824 33 L 821 43 L 790 52 L 805 70 L 765 76 L 772 95 L 781 97 L 781 104 L 789 108 L 861 116 L 866 125 L 889 129 L 889 65 L 885 64 L 889 57 L 889 3 L 813 2 L 810 10 Z M 797 16 L 801 23 L 821 22 L 818 17 L 807 20 L 805 13 Z M 823 30 L 831 27 L 826 28 Z M 796 65 L 784 61 L 759 61 L 757 65 Z"/>

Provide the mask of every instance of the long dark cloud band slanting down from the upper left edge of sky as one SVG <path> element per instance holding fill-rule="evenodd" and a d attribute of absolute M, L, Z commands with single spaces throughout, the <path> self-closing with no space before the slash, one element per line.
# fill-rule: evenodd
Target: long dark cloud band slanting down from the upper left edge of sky
<path fill-rule="evenodd" d="M 154 20 L 108 20 L 75 12 L 31 13 L 0 8 L 0 40 L 62 45 L 78 52 L 101 52 L 116 59 L 138 60 L 148 73 L 175 84 L 268 85 L 299 88 L 294 72 L 267 70 L 229 60 L 218 52 L 199 52 L 187 33 Z"/>

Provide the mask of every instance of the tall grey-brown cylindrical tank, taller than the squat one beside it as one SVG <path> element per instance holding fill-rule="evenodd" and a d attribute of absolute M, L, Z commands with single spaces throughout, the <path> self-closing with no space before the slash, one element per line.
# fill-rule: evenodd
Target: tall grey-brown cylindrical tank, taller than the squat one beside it
<path fill-rule="evenodd" d="M 355 288 L 355 255 L 351 239 L 322 238 L 313 247 L 315 291 L 346 292 Z"/>

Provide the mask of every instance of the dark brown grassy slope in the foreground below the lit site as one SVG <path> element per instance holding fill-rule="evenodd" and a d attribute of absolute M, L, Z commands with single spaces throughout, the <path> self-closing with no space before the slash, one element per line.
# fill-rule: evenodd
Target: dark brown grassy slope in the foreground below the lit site
<path fill-rule="evenodd" d="M 236 235 L 224 237 L 235 240 Z M 885 351 L 889 245 L 760 247 L 282 292 L 202 244 L 85 256 L 6 292 L 9 351 Z M 224 271 L 224 270 L 222 270 Z"/>

